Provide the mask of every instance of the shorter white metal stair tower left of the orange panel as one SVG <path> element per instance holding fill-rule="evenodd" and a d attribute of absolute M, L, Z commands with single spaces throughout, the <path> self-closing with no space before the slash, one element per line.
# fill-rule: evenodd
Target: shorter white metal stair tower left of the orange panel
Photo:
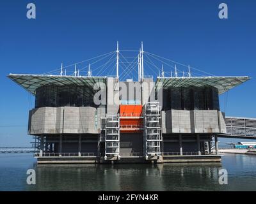
<path fill-rule="evenodd" d="M 105 124 L 105 157 L 104 159 L 120 159 L 120 117 L 106 115 Z"/>

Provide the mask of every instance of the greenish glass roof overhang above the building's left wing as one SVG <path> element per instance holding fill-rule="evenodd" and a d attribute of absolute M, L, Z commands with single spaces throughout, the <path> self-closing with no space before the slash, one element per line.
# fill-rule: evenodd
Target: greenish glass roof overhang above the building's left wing
<path fill-rule="evenodd" d="M 10 74 L 7 76 L 13 82 L 20 85 L 26 91 L 31 92 L 31 94 L 36 94 L 36 89 L 44 85 L 79 85 L 91 87 L 92 89 L 101 82 L 106 85 L 107 77 L 74 77 L 74 76 L 58 76 L 58 75 L 23 75 Z M 99 87 L 96 87 L 99 89 Z"/>

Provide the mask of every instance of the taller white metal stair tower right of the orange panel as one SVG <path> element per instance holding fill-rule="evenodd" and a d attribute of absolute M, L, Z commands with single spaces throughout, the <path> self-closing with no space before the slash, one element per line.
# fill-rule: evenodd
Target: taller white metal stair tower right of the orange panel
<path fill-rule="evenodd" d="M 146 159 L 161 156 L 161 112 L 158 102 L 148 102 L 144 108 L 144 155 Z"/>

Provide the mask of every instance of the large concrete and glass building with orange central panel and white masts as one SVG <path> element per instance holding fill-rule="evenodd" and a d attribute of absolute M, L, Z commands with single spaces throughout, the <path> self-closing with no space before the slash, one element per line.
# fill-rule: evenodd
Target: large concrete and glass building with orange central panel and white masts
<path fill-rule="evenodd" d="M 62 68 L 59 75 L 8 75 L 35 96 L 28 134 L 38 163 L 221 161 L 219 96 L 249 77 L 145 76 L 140 50 L 138 80 L 121 81 L 116 51 L 112 77 L 93 77 L 90 68 L 86 76 Z"/>

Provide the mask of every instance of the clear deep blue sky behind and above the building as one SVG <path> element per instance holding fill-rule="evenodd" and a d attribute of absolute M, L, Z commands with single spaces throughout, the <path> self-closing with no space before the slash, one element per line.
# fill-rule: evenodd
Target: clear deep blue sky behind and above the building
<path fill-rule="evenodd" d="M 26 5 L 36 4 L 36 19 Z M 228 4 L 228 19 L 218 5 Z M 252 80 L 228 92 L 227 115 L 256 117 L 256 1 L 13 1 L 0 2 L 0 146 L 29 145 L 28 110 L 33 96 L 6 78 L 45 73 L 61 62 L 127 50 L 140 41 L 148 52 L 191 64 L 218 76 Z M 12 126 L 12 127 L 6 127 Z M 228 140 L 230 141 L 230 140 Z"/>

